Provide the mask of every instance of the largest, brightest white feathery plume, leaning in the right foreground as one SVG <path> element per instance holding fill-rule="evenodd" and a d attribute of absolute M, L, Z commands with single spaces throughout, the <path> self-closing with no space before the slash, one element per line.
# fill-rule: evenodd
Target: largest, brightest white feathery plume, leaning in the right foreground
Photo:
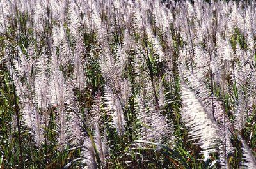
<path fill-rule="evenodd" d="M 198 140 L 203 153 L 218 152 L 219 129 L 195 94 L 181 84 L 182 119 L 190 128 L 191 140 Z"/>

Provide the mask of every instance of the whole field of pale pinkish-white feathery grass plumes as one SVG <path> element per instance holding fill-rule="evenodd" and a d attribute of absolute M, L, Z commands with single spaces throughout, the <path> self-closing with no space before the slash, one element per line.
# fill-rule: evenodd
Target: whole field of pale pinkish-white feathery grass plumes
<path fill-rule="evenodd" d="M 164 106 L 172 92 L 167 89 L 175 88 L 179 75 L 181 114 L 191 140 L 204 154 L 220 154 L 221 166 L 227 167 L 234 152 L 231 137 L 243 131 L 255 111 L 255 7 L 254 2 L 202 0 L 1 1 L 0 32 L 8 34 L 17 10 L 28 15 L 26 28 L 36 42 L 5 52 L 22 121 L 41 147 L 54 113 L 60 151 L 81 145 L 88 168 L 104 166 L 102 131 L 110 124 L 118 136 L 127 134 L 132 101 L 138 139 L 173 141 L 175 126 Z M 88 72 L 92 61 L 105 84 L 93 91 L 88 108 L 75 91 L 92 92 L 92 82 L 87 84 L 96 73 Z M 234 123 L 214 91 L 233 96 Z M 243 136 L 241 142 L 244 158 L 250 157 L 244 166 L 255 165 Z"/>

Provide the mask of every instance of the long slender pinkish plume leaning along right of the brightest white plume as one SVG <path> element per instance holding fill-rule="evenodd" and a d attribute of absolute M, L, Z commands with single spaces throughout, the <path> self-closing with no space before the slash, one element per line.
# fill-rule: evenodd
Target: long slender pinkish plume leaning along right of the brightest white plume
<path fill-rule="evenodd" d="M 185 80 L 188 80 L 188 87 L 196 94 L 198 100 L 201 101 L 207 112 L 209 112 L 209 117 L 217 122 L 220 131 L 219 136 L 221 139 L 221 144 L 219 146 L 220 163 L 223 166 L 227 166 L 228 154 L 232 153 L 234 150 L 231 143 L 231 132 L 233 129 L 221 102 L 214 98 L 214 96 L 210 96 L 211 92 L 208 91 L 205 84 L 201 82 L 198 77 L 193 75 L 193 73 L 185 70 L 184 68 L 180 68 L 180 73 L 182 73 L 182 77 L 184 77 Z"/>

